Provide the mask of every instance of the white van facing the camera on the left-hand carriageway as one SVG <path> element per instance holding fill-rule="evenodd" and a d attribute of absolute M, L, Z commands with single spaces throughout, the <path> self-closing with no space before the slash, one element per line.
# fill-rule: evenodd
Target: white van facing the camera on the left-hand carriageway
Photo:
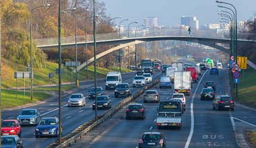
<path fill-rule="evenodd" d="M 108 72 L 106 75 L 106 90 L 107 89 L 115 89 L 116 85 L 122 83 L 121 73 L 117 71 Z"/>

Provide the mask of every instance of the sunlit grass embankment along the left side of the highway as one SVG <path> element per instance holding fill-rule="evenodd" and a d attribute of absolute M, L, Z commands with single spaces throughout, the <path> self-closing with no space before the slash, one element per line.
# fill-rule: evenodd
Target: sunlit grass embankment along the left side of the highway
<path fill-rule="evenodd" d="M 33 99 L 30 99 L 30 79 L 14 79 L 15 71 L 26 71 L 26 67 L 15 65 L 6 59 L 2 59 L 1 65 L 1 108 L 11 108 L 22 106 L 32 102 L 38 102 L 51 97 L 51 94 L 45 91 L 59 91 L 56 86 L 59 83 L 59 75 L 55 73 L 55 69 L 59 68 L 57 63 L 46 62 L 46 67 L 33 69 Z M 72 72 L 74 67 L 64 67 L 64 73 L 61 77 L 61 83 L 75 82 L 75 73 Z M 110 67 L 110 71 L 119 71 L 119 67 Z M 121 69 L 122 73 L 126 73 L 129 69 Z M 54 77 L 50 80 L 48 74 L 54 73 Z M 97 67 L 97 78 L 103 78 L 108 73 L 108 69 Z M 86 70 L 83 69 L 78 73 L 79 81 L 86 80 Z M 88 79 L 94 79 L 94 67 L 88 67 Z M 16 83 L 17 82 L 17 83 Z M 52 85 L 52 87 L 38 87 L 42 85 Z M 55 86 L 54 86 L 55 85 Z M 18 87 L 18 91 L 16 91 Z M 25 87 L 25 94 L 24 94 Z M 75 88 L 75 85 L 62 85 L 61 91 L 67 91 Z"/>

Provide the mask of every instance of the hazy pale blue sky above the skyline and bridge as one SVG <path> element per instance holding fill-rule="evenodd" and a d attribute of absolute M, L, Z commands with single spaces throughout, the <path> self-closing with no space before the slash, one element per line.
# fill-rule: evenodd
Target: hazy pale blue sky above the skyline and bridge
<path fill-rule="evenodd" d="M 130 21 L 122 22 L 127 26 L 131 22 L 143 24 L 145 17 L 158 17 L 158 26 L 174 26 L 181 24 L 181 17 L 196 16 L 199 26 L 202 24 L 220 23 L 218 5 L 231 7 L 216 3 L 216 0 L 98 0 L 106 4 L 106 14 L 110 17 L 121 16 L 114 20 L 130 18 Z M 253 17 L 256 12 L 256 0 L 225 0 L 236 7 L 237 21 L 246 21 Z M 223 9 L 228 11 L 228 9 Z"/>

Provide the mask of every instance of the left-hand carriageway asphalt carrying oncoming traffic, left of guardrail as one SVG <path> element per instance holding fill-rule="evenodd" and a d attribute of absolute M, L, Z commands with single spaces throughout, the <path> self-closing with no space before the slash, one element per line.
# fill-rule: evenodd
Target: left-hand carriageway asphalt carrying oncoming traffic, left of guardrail
<path fill-rule="evenodd" d="M 159 75 L 162 73 L 157 73 L 154 75 L 154 77 L 159 77 Z M 130 86 L 132 86 L 132 80 L 135 76 L 135 73 L 127 73 L 123 74 L 123 82 L 129 83 Z M 97 85 L 105 88 L 105 82 L 103 79 L 99 79 L 97 81 Z M 88 96 L 88 90 L 91 87 L 94 87 L 94 81 L 88 81 L 85 83 L 80 83 L 84 87 L 81 91 L 77 91 L 75 93 L 82 93 L 84 96 Z M 135 94 L 135 92 L 139 91 L 141 87 L 131 87 L 132 94 Z M 114 90 L 104 90 L 105 94 L 108 95 L 111 98 L 112 106 L 115 106 L 118 104 L 121 100 L 124 98 L 115 98 L 114 97 Z M 62 106 L 62 126 L 63 126 L 63 137 L 65 135 L 71 133 L 75 128 L 80 126 L 81 124 L 84 124 L 84 122 L 87 122 L 88 120 L 92 120 L 95 117 L 95 111 L 92 110 L 92 102 L 93 100 L 89 100 L 88 97 L 86 97 L 86 106 L 83 107 L 67 107 L 67 100 L 69 98 L 68 94 L 67 96 L 62 96 L 61 99 L 61 106 Z M 56 96 L 56 99 L 51 102 L 46 102 L 44 104 L 38 104 L 36 106 L 31 106 L 30 108 L 36 108 L 42 117 L 49 117 L 49 116 L 59 116 L 59 100 L 58 96 Z M 8 110 L 5 112 L 2 112 L 2 119 L 16 119 L 17 114 L 20 113 L 21 109 L 19 110 Z M 105 110 L 98 110 L 98 115 L 102 114 Z M 35 138 L 34 130 L 36 126 L 22 126 L 22 142 L 24 147 L 33 147 L 40 148 L 40 147 L 46 147 L 57 140 L 57 137 L 42 137 L 42 138 Z"/>

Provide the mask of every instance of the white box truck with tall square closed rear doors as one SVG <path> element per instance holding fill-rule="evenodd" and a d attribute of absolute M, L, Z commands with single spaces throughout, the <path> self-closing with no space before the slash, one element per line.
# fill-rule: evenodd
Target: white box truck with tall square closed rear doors
<path fill-rule="evenodd" d="M 190 95 L 192 88 L 191 71 L 174 71 L 174 91 Z"/>

